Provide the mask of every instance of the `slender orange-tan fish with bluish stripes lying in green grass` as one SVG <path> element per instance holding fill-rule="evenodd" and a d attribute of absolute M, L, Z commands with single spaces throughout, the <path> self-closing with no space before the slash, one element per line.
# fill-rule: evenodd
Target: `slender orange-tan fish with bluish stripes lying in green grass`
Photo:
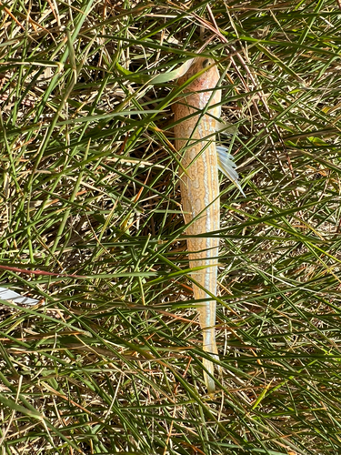
<path fill-rule="evenodd" d="M 219 358 L 216 300 L 211 296 L 216 296 L 219 238 L 200 236 L 220 228 L 218 169 L 245 196 L 233 157 L 226 147 L 216 146 L 216 133 L 222 128 L 219 80 L 216 62 L 212 58 L 196 57 L 186 74 L 178 79 L 177 85 L 184 88 L 172 105 L 175 146 L 182 155 L 180 192 L 188 236 L 189 267 L 201 268 L 191 273 L 200 285 L 194 284 L 193 292 L 196 300 L 204 302 L 197 306 L 203 350 L 214 359 Z M 214 363 L 204 358 L 203 365 L 206 389 L 212 395 L 216 390 Z"/>

